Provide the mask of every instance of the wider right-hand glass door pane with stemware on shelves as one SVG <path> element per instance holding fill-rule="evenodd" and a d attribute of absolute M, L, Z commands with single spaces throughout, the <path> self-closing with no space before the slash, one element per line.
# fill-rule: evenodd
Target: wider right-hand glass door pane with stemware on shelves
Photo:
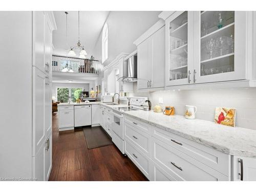
<path fill-rule="evenodd" d="M 201 11 L 200 76 L 234 71 L 234 11 Z"/>

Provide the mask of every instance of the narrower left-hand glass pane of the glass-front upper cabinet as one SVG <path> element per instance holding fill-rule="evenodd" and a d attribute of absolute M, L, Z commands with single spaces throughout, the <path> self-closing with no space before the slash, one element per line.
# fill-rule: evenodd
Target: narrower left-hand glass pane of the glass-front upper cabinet
<path fill-rule="evenodd" d="M 187 78 L 187 11 L 169 23 L 169 80 Z"/>

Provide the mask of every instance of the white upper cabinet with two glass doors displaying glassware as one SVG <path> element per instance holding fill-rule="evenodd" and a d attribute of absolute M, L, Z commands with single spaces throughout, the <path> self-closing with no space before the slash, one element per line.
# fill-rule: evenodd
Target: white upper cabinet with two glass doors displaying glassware
<path fill-rule="evenodd" d="M 166 87 L 249 81 L 255 75 L 252 12 L 176 11 L 164 19 Z"/>

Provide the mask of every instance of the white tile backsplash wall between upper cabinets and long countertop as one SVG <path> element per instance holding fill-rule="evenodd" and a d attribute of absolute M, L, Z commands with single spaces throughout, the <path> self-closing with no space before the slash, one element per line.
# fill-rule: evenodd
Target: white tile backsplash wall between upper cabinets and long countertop
<path fill-rule="evenodd" d="M 135 85 L 134 88 L 137 88 Z M 214 121 L 215 108 L 225 106 L 237 109 L 236 126 L 256 130 L 256 88 L 215 90 L 169 90 L 156 92 L 134 92 L 130 95 L 147 96 L 152 106 L 175 106 L 177 115 L 184 115 L 185 105 L 197 106 L 196 118 Z M 159 97 L 164 104 L 159 104 Z"/>

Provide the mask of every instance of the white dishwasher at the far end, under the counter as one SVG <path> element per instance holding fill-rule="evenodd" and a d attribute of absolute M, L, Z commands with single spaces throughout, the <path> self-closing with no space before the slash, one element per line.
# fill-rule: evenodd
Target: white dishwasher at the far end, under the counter
<path fill-rule="evenodd" d="M 92 124 L 92 105 L 74 106 L 75 127 Z"/>

